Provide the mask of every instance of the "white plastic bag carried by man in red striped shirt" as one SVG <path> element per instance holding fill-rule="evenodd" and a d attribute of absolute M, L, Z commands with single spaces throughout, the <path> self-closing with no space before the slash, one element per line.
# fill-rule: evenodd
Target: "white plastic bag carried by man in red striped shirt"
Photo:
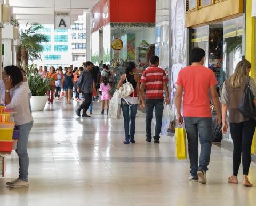
<path fill-rule="evenodd" d="M 173 122 L 174 121 L 174 122 Z M 173 125 L 174 123 L 174 125 Z M 164 105 L 163 117 L 162 117 L 162 136 L 174 136 L 175 132 L 175 115 L 170 105 Z"/>

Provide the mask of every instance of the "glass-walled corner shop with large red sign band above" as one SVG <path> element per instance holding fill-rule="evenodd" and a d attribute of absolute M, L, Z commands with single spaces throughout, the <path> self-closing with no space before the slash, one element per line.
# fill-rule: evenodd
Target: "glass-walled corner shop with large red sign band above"
<path fill-rule="evenodd" d="M 155 54 L 155 13 L 155 0 L 101 0 L 91 12 L 92 62 L 108 64 L 119 75 L 134 61 L 140 73 Z"/>

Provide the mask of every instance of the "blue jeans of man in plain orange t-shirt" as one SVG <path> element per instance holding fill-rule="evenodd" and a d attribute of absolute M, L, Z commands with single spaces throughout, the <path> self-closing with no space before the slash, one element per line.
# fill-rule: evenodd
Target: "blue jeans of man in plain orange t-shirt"
<path fill-rule="evenodd" d="M 190 160 L 190 173 L 197 176 L 198 170 L 207 171 L 210 162 L 212 147 L 212 118 L 184 117 L 186 133 L 188 136 L 188 155 Z M 198 167 L 198 136 L 201 144 L 201 153 Z"/>

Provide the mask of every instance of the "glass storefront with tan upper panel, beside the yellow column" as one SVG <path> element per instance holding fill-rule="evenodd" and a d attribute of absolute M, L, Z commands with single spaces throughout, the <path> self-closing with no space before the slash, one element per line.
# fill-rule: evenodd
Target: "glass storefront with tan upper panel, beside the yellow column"
<path fill-rule="evenodd" d="M 223 82 L 245 56 L 243 0 L 187 0 L 186 3 L 189 50 L 193 47 L 205 50 L 205 66 L 215 73 L 220 97 Z M 237 6 L 228 6 L 232 4 Z M 226 149 L 233 148 L 229 131 L 223 135 L 221 144 Z"/>

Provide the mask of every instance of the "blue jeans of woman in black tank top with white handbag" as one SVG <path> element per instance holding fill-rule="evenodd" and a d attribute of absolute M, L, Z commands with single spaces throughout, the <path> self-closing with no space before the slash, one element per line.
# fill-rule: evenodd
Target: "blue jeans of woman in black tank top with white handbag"
<path fill-rule="evenodd" d="M 121 99 L 121 108 L 124 115 L 124 132 L 126 142 L 134 140 L 137 107 L 138 104 L 132 104 L 131 106 L 129 106 L 123 98 Z"/>

